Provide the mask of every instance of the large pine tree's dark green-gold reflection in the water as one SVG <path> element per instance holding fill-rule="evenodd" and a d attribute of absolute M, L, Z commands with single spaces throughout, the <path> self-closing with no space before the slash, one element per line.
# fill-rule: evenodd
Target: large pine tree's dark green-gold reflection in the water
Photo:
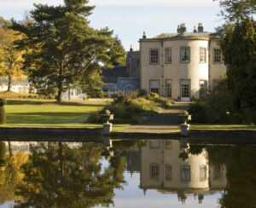
<path fill-rule="evenodd" d="M 17 194 L 22 207 L 92 207 L 113 204 L 113 190 L 120 188 L 125 163 L 113 159 L 102 167 L 102 144 L 49 142 L 32 147 L 29 163 L 23 165 L 24 184 Z"/>

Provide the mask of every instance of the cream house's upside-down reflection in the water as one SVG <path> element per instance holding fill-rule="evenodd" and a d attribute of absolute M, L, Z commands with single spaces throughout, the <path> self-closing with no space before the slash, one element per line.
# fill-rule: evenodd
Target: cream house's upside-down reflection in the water
<path fill-rule="evenodd" d="M 204 195 L 226 187 L 225 165 L 212 165 L 207 151 L 189 153 L 187 143 L 171 140 L 150 140 L 141 148 L 141 184 L 144 194 L 155 189 L 162 194 L 177 194 L 185 204 L 194 195 L 199 204 Z"/>

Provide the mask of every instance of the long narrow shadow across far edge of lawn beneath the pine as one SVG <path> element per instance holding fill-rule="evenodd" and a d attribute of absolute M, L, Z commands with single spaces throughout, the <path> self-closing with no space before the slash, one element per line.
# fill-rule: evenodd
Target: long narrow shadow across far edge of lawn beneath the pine
<path fill-rule="evenodd" d="M 7 105 L 56 105 L 56 106 L 80 106 L 80 107 L 104 107 L 103 104 L 90 104 L 84 102 L 73 102 L 73 101 L 7 101 Z"/>

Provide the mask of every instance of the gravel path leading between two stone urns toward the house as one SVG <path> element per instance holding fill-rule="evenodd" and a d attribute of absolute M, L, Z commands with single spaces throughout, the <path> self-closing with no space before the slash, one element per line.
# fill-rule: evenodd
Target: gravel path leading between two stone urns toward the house
<path fill-rule="evenodd" d="M 146 119 L 142 124 L 130 125 L 123 132 L 170 133 L 179 130 L 177 115 L 189 107 L 189 102 L 176 102 L 170 109 Z"/>

